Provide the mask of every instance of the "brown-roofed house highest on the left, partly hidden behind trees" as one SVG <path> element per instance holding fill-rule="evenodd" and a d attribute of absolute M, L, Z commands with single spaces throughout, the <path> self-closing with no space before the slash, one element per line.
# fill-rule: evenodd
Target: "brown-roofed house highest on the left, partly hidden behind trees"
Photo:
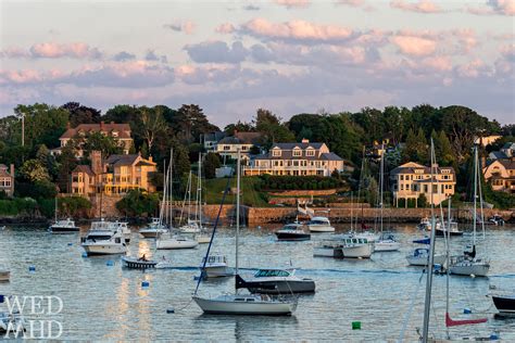
<path fill-rule="evenodd" d="M 130 137 L 130 126 L 128 124 L 115 124 L 114 122 L 100 124 L 80 124 L 76 128 L 68 128 L 59 138 L 61 147 L 52 150 L 52 154 L 60 154 L 62 149 L 75 140 L 78 143 L 77 157 L 84 156 L 83 145 L 86 142 L 87 136 L 93 132 L 100 132 L 104 136 L 112 137 L 123 149 L 124 154 L 128 154 L 133 147 L 133 138 Z"/>

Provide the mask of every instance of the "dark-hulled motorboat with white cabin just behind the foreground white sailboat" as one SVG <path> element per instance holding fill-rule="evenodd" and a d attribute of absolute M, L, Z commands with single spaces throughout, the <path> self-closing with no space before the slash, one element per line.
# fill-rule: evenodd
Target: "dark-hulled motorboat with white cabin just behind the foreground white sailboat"
<path fill-rule="evenodd" d="M 242 288 L 261 294 L 314 293 L 315 281 L 297 277 L 296 269 L 259 269 L 251 279 L 236 276 L 236 289 Z"/>

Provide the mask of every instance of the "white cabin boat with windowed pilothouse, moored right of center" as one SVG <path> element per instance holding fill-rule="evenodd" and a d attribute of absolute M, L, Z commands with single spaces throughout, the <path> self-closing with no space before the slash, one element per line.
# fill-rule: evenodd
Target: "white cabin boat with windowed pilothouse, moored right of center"
<path fill-rule="evenodd" d="M 343 236 L 340 239 L 325 241 L 315 246 L 313 256 L 369 258 L 374 250 L 374 243 L 369 242 L 366 238 Z"/>

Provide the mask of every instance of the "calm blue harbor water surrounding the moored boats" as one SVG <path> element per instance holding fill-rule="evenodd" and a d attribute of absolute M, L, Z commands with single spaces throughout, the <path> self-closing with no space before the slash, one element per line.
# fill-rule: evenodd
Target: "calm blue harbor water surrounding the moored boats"
<path fill-rule="evenodd" d="M 342 230 L 343 228 L 339 228 Z M 86 230 L 86 228 L 84 228 Z M 81 257 L 79 234 L 52 236 L 43 229 L 7 228 L 0 231 L 0 264 L 11 268 L 11 282 L 0 283 L 0 294 L 58 295 L 64 309 L 51 319 L 63 325 L 62 339 L 83 340 L 183 340 L 183 341 L 394 341 L 404 327 L 404 339 L 418 338 L 424 313 L 425 278 L 420 269 L 409 267 L 405 255 L 419 234 L 413 226 L 399 226 L 401 252 L 374 254 L 372 259 L 338 261 L 313 257 L 311 242 L 276 242 L 272 228 L 243 229 L 241 265 L 243 268 L 287 267 L 298 275 L 316 280 L 316 294 L 301 296 L 292 317 L 206 316 L 190 303 L 194 290 L 196 266 L 206 245 L 196 250 L 154 252 L 153 240 L 142 239 L 134 229 L 130 254 L 165 255 L 177 268 L 139 271 L 123 269 L 120 257 Z M 83 234 L 85 231 L 81 232 Z M 452 239 L 461 251 L 470 236 Z M 451 313 L 465 317 L 463 309 L 486 312 L 487 323 L 452 329 L 453 335 L 489 335 L 515 341 L 515 319 L 497 319 L 491 300 L 486 296 L 489 284 L 515 287 L 515 228 L 492 229 L 487 233 L 492 267 L 489 278 L 452 277 Z M 438 241 L 437 250 L 442 251 Z M 214 251 L 234 263 L 234 238 L 228 229 L 217 234 Z M 109 266 L 108 262 L 114 262 Z M 28 267 L 34 265 L 36 271 Z M 244 274 L 252 270 L 243 270 Z M 141 288 L 148 280 L 149 288 Z M 230 292 L 234 279 L 202 283 L 202 295 Z M 445 278 L 435 277 L 431 332 L 444 332 Z M 166 309 L 175 308 L 175 314 Z M 361 321 L 362 330 L 352 330 L 352 321 Z"/>

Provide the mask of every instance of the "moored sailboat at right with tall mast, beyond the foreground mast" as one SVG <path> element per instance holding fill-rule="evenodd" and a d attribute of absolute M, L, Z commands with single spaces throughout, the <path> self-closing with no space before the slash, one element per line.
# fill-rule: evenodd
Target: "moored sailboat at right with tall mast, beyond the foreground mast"
<path fill-rule="evenodd" d="M 478 194 L 479 189 L 479 194 Z M 463 255 L 453 256 L 449 264 L 449 270 L 451 274 L 464 275 L 464 276 L 476 276 L 486 277 L 490 269 L 490 262 L 486 258 L 477 257 L 476 251 L 476 220 L 477 220 L 477 199 L 479 196 L 480 203 L 480 220 L 482 226 L 482 239 L 485 240 L 485 216 L 482 213 L 482 191 L 481 191 L 481 177 L 479 169 L 479 157 L 477 153 L 477 145 L 474 147 L 474 215 L 473 215 L 473 246 L 472 251 L 464 251 Z"/>

